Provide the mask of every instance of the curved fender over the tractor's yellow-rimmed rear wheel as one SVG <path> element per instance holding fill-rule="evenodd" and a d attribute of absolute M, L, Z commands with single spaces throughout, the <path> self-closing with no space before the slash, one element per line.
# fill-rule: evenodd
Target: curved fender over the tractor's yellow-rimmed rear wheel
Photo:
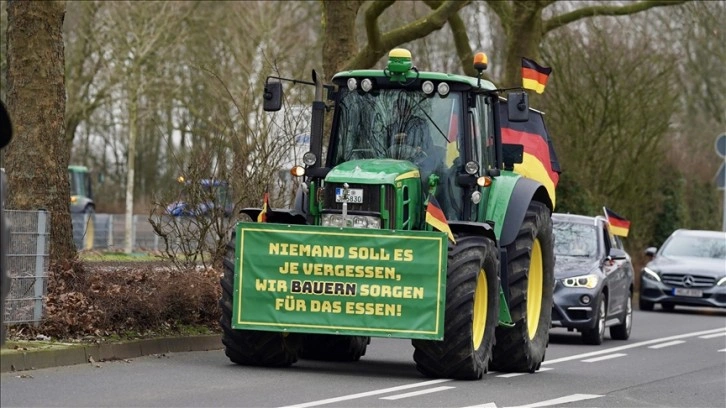
<path fill-rule="evenodd" d="M 527 213 L 529 203 L 539 201 L 544 203 L 550 212 L 553 209 L 552 201 L 547 193 L 547 189 L 542 184 L 529 178 L 520 177 L 509 198 L 509 206 L 504 216 L 504 225 L 499 239 L 500 248 L 514 242 L 519 233 L 519 228 L 524 221 L 524 215 Z"/>

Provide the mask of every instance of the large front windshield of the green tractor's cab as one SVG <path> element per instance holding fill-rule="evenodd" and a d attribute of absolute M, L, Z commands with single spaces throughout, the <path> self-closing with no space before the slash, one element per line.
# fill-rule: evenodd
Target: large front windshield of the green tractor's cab
<path fill-rule="evenodd" d="M 342 91 L 333 166 L 358 159 L 409 160 L 425 177 L 458 155 L 460 93 L 441 97 L 402 89 Z"/>

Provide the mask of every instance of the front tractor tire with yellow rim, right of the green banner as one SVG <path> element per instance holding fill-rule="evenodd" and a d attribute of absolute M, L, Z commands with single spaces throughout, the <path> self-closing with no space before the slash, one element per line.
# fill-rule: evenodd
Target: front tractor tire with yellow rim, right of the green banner
<path fill-rule="evenodd" d="M 424 375 L 480 379 L 487 372 L 499 319 L 499 256 L 483 236 L 458 235 L 449 243 L 444 339 L 413 340 Z"/>

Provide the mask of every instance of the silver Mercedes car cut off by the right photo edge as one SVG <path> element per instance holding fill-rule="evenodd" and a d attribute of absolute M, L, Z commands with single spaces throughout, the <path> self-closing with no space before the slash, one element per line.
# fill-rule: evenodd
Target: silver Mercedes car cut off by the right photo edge
<path fill-rule="evenodd" d="M 640 274 L 640 309 L 659 303 L 671 311 L 676 305 L 726 308 L 726 232 L 674 231 Z"/>

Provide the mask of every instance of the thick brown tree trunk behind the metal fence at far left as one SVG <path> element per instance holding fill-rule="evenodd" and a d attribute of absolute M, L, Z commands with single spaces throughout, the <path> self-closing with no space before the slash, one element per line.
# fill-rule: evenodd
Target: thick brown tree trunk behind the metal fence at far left
<path fill-rule="evenodd" d="M 8 108 L 15 138 L 8 208 L 50 212 L 50 260 L 77 255 L 70 218 L 70 152 L 65 142 L 64 1 L 9 1 Z M 20 187 L 22 186 L 22 188 Z"/>

